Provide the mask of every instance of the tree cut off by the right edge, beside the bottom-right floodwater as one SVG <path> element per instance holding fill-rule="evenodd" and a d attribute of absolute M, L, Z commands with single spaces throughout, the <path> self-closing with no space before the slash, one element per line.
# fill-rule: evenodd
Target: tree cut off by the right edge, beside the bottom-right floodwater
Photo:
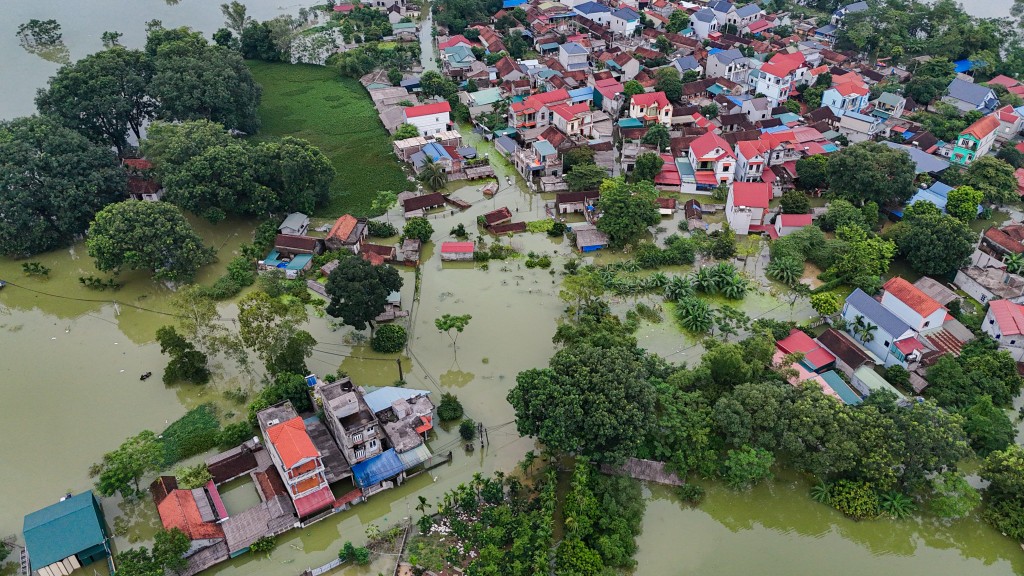
<path fill-rule="evenodd" d="M 989 482 L 982 518 L 1011 538 L 1024 539 L 1024 448 L 1012 445 L 989 454 L 981 479 Z"/>

